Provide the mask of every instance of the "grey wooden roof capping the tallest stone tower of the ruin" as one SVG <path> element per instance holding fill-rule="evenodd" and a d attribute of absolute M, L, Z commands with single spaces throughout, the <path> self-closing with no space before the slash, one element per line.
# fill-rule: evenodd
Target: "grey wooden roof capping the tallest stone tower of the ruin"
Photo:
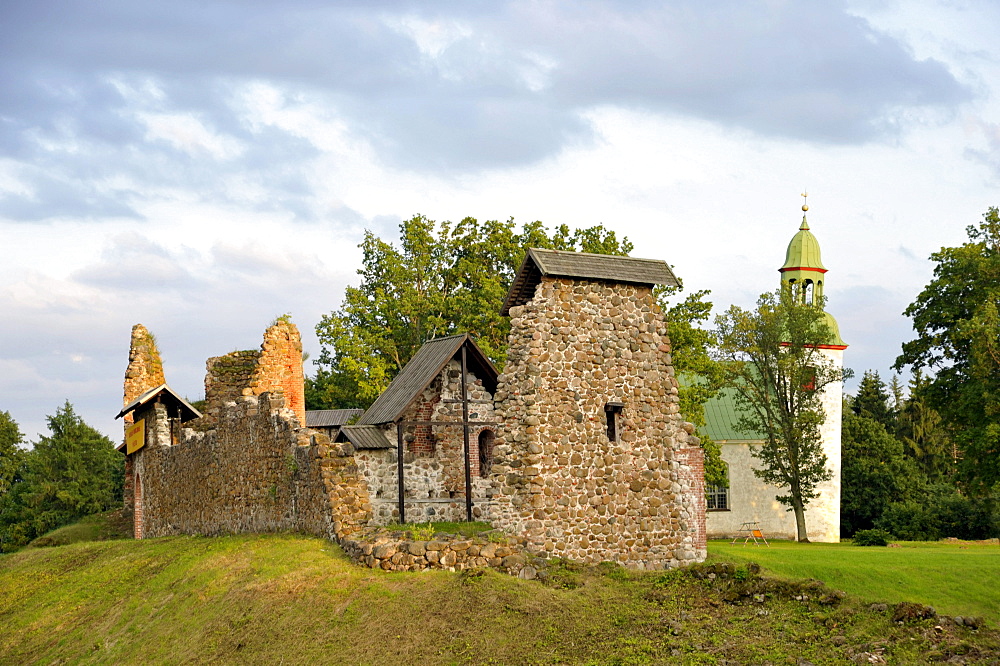
<path fill-rule="evenodd" d="M 679 284 L 670 266 L 662 259 L 636 259 L 532 247 L 528 248 L 521 269 L 507 291 L 507 299 L 500 314 L 506 316 L 515 305 L 524 305 L 531 300 L 543 275 L 629 284 Z"/>

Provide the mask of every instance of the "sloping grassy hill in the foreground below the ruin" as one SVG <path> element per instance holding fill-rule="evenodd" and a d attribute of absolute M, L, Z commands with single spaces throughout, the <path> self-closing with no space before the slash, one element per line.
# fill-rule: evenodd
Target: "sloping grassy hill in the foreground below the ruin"
<path fill-rule="evenodd" d="M 993 629 L 754 569 L 385 573 L 297 535 L 31 548 L 0 557 L 0 663 L 1000 663 Z"/>

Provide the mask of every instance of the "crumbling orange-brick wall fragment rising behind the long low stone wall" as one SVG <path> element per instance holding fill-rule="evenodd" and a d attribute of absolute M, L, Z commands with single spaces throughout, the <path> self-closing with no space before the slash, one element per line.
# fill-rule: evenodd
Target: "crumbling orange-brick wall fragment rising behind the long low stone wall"
<path fill-rule="evenodd" d="M 295 324 L 279 318 L 264 332 L 259 351 L 235 351 L 208 359 L 205 418 L 198 430 L 216 427 L 225 405 L 241 396 L 281 392 L 300 425 L 306 422 L 302 339 Z"/>

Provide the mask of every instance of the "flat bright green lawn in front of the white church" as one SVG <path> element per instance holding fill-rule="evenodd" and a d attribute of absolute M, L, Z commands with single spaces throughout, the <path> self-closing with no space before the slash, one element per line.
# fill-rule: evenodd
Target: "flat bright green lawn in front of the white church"
<path fill-rule="evenodd" d="M 816 578 L 872 602 L 915 601 L 947 615 L 1000 619 L 1000 547 L 910 541 L 899 548 L 771 541 L 770 547 L 709 542 L 711 560 L 754 561 L 790 578 Z"/>

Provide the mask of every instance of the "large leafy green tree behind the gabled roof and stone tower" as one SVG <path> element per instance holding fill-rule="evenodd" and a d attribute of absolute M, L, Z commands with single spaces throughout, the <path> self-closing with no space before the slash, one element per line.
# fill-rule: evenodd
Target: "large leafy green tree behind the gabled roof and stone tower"
<path fill-rule="evenodd" d="M 510 322 L 500 307 L 529 247 L 627 255 L 632 243 L 602 225 L 549 231 L 541 222 L 517 229 L 513 220 L 457 224 L 416 216 L 400 224 L 398 244 L 366 232 L 358 286 L 347 288 L 338 310 L 316 327 L 322 345 L 317 372 L 307 380 L 309 409 L 367 407 L 427 340 L 469 332 L 502 367 Z M 659 289 L 678 373 L 705 381 L 681 389 L 685 418 L 704 424 L 704 403 L 718 373 L 707 348 L 711 332 L 701 327 L 711 312 L 707 291 L 688 294 Z M 718 449 L 710 440 L 706 473 L 724 483 Z"/>

